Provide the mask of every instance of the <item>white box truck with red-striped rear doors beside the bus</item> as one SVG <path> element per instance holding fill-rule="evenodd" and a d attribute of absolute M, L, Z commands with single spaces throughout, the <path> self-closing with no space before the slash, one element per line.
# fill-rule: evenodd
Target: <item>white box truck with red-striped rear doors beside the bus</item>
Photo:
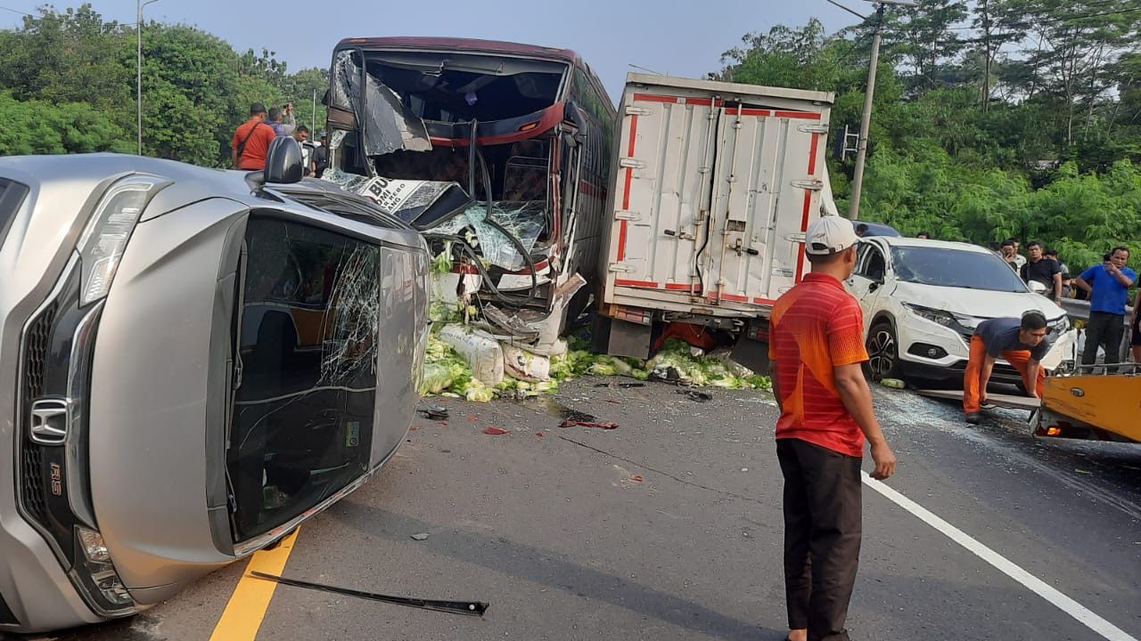
<path fill-rule="evenodd" d="M 822 91 L 626 76 L 597 351 L 646 358 L 686 324 L 764 370 L 772 303 L 807 269 L 804 230 L 835 213 L 824 162 L 832 103 Z"/>

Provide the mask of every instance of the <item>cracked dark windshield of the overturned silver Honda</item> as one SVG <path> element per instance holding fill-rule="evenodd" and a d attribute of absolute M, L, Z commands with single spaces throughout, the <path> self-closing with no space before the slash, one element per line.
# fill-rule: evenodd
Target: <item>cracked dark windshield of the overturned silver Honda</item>
<path fill-rule="evenodd" d="M 369 465 L 380 250 L 251 219 L 227 470 L 235 538 L 299 516 Z"/>

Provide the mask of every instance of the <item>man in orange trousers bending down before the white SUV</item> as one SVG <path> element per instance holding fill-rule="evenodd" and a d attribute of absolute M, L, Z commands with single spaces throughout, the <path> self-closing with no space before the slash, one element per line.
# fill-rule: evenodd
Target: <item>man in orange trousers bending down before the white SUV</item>
<path fill-rule="evenodd" d="M 1030 310 L 1022 318 L 990 318 L 979 323 L 971 336 L 971 359 L 963 374 L 963 412 L 966 422 L 978 423 L 982 415 L 982 404 L 987 398 L 987 383 L 994 371 L 995 360 L 1005 358 L 1020 374 L 1030 398 L 1042 398 L 1042 386 L 1046 378 L 1042 359 L 1050 351 L 1046 339 L 1046 317 Z"/>

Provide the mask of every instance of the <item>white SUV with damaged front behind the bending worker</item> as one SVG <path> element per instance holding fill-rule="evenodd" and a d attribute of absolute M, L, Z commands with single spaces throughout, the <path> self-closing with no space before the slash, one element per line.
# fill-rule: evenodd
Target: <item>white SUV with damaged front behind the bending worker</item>
<path fill-rule="evenodd" d="M 1047 372 L 1073 363 L 1075 330 L 1066 311 L 1031 292 L 997 255 L 966 243 L 875 236 L 860 241 L 845 282 L 864 309 L 868 366 L 875 380 L 922 379 L 962 383 L 974 327 L 987 318 L 1045 314 L 1053 342 Z M 994 382 L 1021 387 L 1018 371 L 1000 360 Z"/>

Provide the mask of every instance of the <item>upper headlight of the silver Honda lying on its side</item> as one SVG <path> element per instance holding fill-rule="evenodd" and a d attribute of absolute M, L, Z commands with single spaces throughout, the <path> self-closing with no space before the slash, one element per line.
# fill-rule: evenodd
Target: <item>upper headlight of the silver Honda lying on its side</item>
<path fill-rule="evenodd" d="M 107 295 L 119 269 L 119 260 L 143 210 L 168 185 L 170 180 L 156 176 L 135 175 L 107 188 L 75 248 L 83 271 L 80 306 Z"/>

